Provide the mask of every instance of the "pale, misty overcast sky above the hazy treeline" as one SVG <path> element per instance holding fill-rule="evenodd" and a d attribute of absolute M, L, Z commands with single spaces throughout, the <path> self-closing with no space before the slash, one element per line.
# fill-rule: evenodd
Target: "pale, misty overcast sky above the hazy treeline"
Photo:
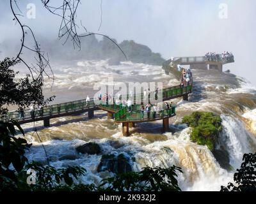
<path fill-rule="evenodd" d="M 57 2 L 61 3 L 54 0 Z M 36 35 L 57 37 L 60 19 L 45 11 L 40 0 L 17 3 L 25 15 L 22 22 L 31 25 Z M 26 18 L 28 3 L 36 5 L 35 19 Z M 81 3 L 77 20 L 82 20 L 88 31 L 107 34 L 118 42 L 135 40 L 166 59 L 231 51 L 236 62 L 225 69 L 256 85 L 255 0 L 102 0 L 100 31 L 100 0 Z M 227 18 L 220 18 L 219 6 L 223 3 L 227 4 Z M 0 43 L 6 38 L 19 41 L 19 27 L 12 20 L 10 2 L 1 0 L 0 9 Z"/>

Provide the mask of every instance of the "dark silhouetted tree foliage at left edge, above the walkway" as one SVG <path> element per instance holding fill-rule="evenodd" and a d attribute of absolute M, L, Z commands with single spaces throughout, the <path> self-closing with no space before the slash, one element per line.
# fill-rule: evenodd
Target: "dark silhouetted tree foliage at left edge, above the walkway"
<path fill-rule="evenodd" d="M 0 61 L 0 116 L 6 114 L 8 106 L 16 105 L 21 108 L 32 104 L 45 105 L 54 97 L 45 99 L 42 93 L 42 78 L 17 78 L 12 66 L 19 63 L 10 58 Z"/>

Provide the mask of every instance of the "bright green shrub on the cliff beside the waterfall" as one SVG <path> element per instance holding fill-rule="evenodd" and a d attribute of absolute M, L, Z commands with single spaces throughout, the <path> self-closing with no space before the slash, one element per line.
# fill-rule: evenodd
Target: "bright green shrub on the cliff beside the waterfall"
<path fill-rule="evenodd" d="M 214 150 L 218 134 L 220 133 L 221 118 L 211 112 L 193 112 L 182 119 L 182 122 L 192 128 L 190 138 L 198 145 L 207 145 Z"/>

